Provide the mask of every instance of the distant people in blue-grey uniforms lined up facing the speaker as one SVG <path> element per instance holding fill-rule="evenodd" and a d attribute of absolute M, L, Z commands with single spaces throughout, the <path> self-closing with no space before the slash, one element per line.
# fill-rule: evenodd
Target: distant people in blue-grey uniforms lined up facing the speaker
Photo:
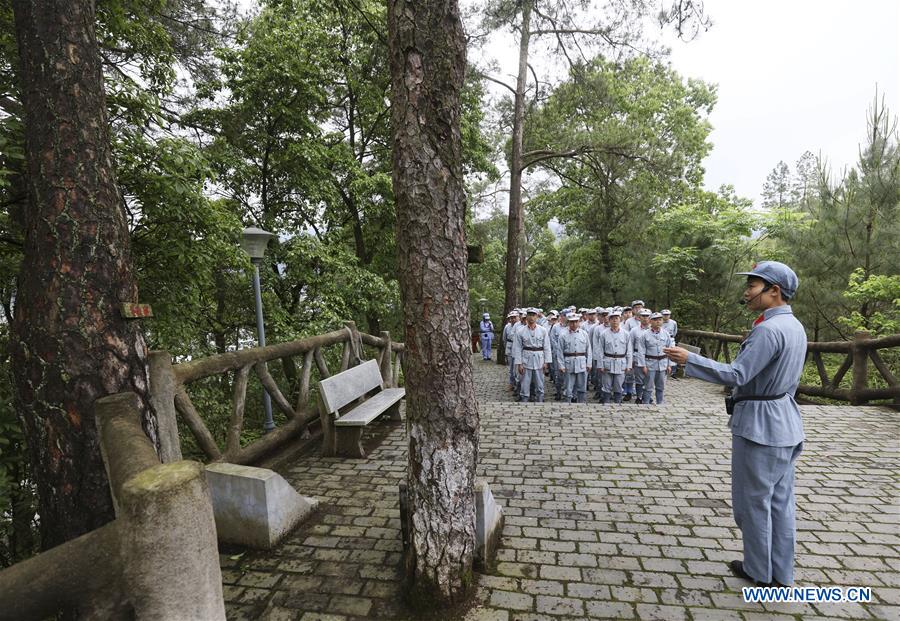
<path fill-rule="evenodd" d="M 557 401 L 585 403 L 593 387 L 602 403 L 663 403 L 666 377 L 675 365 L 666 358 L 678 324 L 668 309 L 654 313 L 643 300 L 631 306 L 564 308 L 546 316 L 540 308 L 514 309 L 507 315 L 502 342 L 509 363 L 510 391 L 519 401 L 544 400 L 544 375 L 553 382 Z M 485 313 L 481 322 L 482 355 Z M 492 326 L 493 324 L 491 324 Z"/>

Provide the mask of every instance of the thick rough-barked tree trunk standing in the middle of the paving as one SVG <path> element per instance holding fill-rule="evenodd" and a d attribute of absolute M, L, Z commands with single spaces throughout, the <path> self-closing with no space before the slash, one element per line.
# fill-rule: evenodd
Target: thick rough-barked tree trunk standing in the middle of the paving
<path fill-rule="evenodd" d="M 475 551 L 478 409 L 468 312 L 456 0 L 390 0 L 393 175 L 406 342 L 405 558 L 414 603 L 464 597 Z"/>

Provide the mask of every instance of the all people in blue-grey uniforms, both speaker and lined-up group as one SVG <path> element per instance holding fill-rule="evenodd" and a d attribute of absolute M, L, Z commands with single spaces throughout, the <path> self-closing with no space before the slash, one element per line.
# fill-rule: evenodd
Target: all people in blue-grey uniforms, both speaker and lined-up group
<path fill-rule="evenodd" d="M 790 306 L 799 286 L 790 267 L 762 261 L 738 275 L 747 277 L 741 304 L 760 315 L 730 364 L 674 347 L 678 326 L 671 313 L 651 313 L 641 300 L 630 309 L 567 308 L 546 317 L 538 308 L 516 309 L 502 338 L 510 387 L 522 401 L 543 400 L 545 370 L 557 399 L 580 403 L 589 380 L 604 403 L 618 403 L 632 391 L 643 403 L 654 393 L 662 403 L 666 374 L 676 364 L 684 365 L 686 376 L 731 386 L 731 494 L 743 558 L 729 568 L 757 586 L 777 587 L 794 578 L 794 464 L 805 439 L 794 394 L 806 332 Z"/>

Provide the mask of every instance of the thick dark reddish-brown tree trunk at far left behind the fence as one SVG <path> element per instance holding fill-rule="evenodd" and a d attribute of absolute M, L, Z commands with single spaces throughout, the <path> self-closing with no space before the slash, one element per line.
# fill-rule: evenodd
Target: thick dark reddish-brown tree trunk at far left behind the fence
<path fill-rule="evenodd" d="M 146 345 L 119 313 L 136 302 L 116 187 L 92 0 L 13 0 L 29 202 L 12 367 L 51 547 L 114 517 L 94 427 L 99 397 L 147 400 Z"/>

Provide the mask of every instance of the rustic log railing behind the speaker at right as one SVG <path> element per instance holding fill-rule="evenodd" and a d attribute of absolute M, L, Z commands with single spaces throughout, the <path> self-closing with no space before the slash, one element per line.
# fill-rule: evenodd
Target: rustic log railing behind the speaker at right
<path fill-rule="evenodd" d="M 722 334 L 720 332 L 704 332 L 702 330 L 679 330 L 678 340 L 684 339 L 700 347 L 701 354 L 724 362 L 732 360 L 731 343 L 741 343 L 744 336 Z M 852 341 L 810 342 L 806 347 L 806 360 L 816 366 L 820 385 L 801 384 L 798 394 L 811 397 L 826 397 L 839 401 L 849 401 L 852 405 L 864 405 L 869 401 L 893 399 L 900 404 L 900 383 L 894 377 L 888 365 L 879 354 L 879 350 L 900 347 L 900 334 L 892 334 L 879 339 L 871 338 L 869 332 L 857 332 Z M 822 354 L 845 354 L 844 360 L 832 377 L 828 376 Z M 876 371 L 887 384 L 883 388 L 870 388 L 870 367 L 872 362 Z M 850 388 L 841 388 L 841 382 L 852 369 Z"/>

